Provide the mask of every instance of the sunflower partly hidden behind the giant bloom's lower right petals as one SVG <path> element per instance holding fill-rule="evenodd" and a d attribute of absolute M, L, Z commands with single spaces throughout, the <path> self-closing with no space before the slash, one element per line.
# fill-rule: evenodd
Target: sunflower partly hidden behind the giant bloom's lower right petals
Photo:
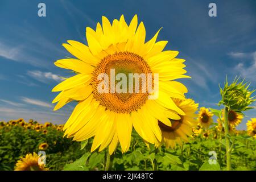
<path fill-rule="evenodd" d="M 196 127 L 196 110 L 198 104 L 191 99 L 179 100 L 174 99 L 175 104 L 184 111 L 185 115 L 180 115 L 180 119 L 170 119 L 171 126 L 165 125 L 163 122 L 158 121 L 158 126 L 162 131 L 162 143 L 166 144 L 166 147 L 174 148 L 176 143 L 182 144 L 182 141 L 188 142 L 188 137 L 193 134 L 193 128 Z M 156 143 L 156 146 L 160 146 L 160 143 Z"/>

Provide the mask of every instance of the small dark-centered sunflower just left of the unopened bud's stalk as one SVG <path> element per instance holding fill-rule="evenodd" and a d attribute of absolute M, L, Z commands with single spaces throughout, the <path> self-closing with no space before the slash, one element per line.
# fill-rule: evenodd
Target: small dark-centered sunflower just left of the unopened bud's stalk
<path fill-rule="evenodd" d="M 213 114 L 212 112 L 205 107 L 200 107 L 197 121 L 199 121 L 200 126 L 203 128 L 208 128 L 213 123 Z"/>

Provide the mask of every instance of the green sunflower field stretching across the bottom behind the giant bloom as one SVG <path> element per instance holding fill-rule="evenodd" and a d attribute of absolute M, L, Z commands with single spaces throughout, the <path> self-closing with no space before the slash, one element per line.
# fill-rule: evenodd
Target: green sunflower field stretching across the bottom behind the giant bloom
<path fill-rule="evenodd" d="M 250 121 L 249 121 L 250 123 Z M 92 152 L 92 140 L 74 142 L 63 138 L 63 125 L 44 125 L 23 119 L 1 122 L 0 127 L 0 170 L 18 169 L 18 161 L 25 160 L 27 154 L 35 152 L 38 163 L 39 151 L 46 152 L 47 170 L 104 170 L 108 151 Z M 111 170 L 226 170 L 225 140 L 222 138 L 217 123 L 210 129 L 197 126 L 193 129 L 193 138 L 188 143 L 174 148 L 160 147 L 157 151 L 150 145 L 146 147 L 142 139 L 133 131 L 131 147 L 122 154 L 118 147 L 112 158 Z M 256 140 L 247 131 L 235 131 L 232 134 L 232 169 L 256 170 Z M 216 152 L 217 164 L 209 164 L 212 154 Z M 24 168 L 23 168 L 24 169 Z M 26 169 L 28 170 L 28 169 Z"/>

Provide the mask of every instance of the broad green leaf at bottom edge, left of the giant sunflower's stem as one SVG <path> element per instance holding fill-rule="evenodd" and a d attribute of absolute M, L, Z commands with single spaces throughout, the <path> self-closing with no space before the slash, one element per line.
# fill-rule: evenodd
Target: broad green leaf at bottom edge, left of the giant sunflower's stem
<path fill-rule="evenodd" d="M 80 159 L 77 159 L 75 162 L 71 164 L 66 164 L 64 166 L 64 171 L 87 171 L 88 168 L 85 167 L 85 163 L 90 156 L 89 152 L 86 152 L 84 155 L 81 156 Z"/>

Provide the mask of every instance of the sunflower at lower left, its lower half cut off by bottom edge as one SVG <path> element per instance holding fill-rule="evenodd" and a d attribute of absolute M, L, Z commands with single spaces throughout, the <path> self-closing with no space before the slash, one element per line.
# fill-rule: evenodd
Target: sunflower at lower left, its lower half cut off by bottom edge
<path fill-rule="evenodd" d="M 15 164 L 15 171 L 47 171 L 44 163 L 38 163 L 39 156 L 34 154 L 27 154 L 25 158 L 21 158 Z"/>

